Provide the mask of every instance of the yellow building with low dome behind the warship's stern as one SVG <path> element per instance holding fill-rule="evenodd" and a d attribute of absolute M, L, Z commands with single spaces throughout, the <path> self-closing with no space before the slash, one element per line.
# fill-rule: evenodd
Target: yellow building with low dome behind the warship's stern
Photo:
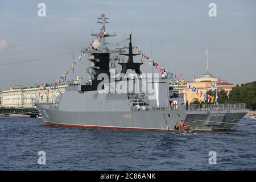
<path fill-rule="evenodd" d="M 188 82 L 187 86 L 177 87 L 176 90 L 180 90 L 181 93 L 184 93 L 184 102 L 193 103 L 194 101 L 202 102 L 204 101 L 204 94 L 211 89 L 211 85 L 216 82 L 217 89 L 224 89 L 226 94 L 229 95 L 229 92 L 232 90 L 235 84 L 223 81 L 220 78 L 212 76 L 207 72 L 200 78 L 193 78 L 192 82 Z M 195 86 L 196 92 L 192 92 L 192 88 Z"/>

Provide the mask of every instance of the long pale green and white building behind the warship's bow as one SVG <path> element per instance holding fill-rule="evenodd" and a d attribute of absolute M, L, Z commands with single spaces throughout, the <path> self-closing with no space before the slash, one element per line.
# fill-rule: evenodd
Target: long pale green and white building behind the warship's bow
<path fill-rule="evenodd" d="M 0 107 L 35 107 L 35 103 L 53 103 L 55 98 L 65 92 L 65 87 L 80 84 L 81 77 L 58 84 L 15 85 L 0 92 Z"/>

